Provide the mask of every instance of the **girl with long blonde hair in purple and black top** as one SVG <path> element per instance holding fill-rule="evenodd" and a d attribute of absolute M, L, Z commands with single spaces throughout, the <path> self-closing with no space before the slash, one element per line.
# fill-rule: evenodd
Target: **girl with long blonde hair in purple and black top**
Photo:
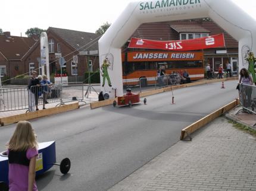
<path fill-rule="evenodd" d="M 38 143 L 30 122 L 18 122 L 7 148 L 9 191 L 38 191 L 35 181 Z"/>

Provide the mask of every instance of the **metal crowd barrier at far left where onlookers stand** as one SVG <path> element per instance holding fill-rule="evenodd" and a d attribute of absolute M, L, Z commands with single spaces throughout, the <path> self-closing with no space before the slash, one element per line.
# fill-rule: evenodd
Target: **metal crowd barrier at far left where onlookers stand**
<path fill-rule="evenodd" d="M 0 112 L 11 110 L 35 110 L 35 106 L 71 101 L 83 101 L 82 82 L 40 85 L 27 87 L 0 88 Z"/>

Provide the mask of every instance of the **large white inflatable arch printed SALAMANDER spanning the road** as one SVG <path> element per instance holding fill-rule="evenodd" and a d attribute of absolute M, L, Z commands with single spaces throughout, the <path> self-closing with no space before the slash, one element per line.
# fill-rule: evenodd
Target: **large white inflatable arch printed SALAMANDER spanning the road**
<path fill-rule="evenodd" d="M 239 68 L 248 68 L 244 53 L 256 53 L 256 22 L 232 0 L 151 0 L 130 2 L 99 39 L 102 91 L 123 95 L 121 47 L 143 23 L 210 17 L 239 42 Z M 116 91 L 116 92 L 115 92 Z"/>

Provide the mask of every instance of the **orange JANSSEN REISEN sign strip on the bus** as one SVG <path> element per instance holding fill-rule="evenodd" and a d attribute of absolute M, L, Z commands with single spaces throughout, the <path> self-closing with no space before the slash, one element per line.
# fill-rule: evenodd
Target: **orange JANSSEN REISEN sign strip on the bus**
<path fill-rule="evenodd" d="M 202 61 L 204 54 L 202 52 L 128 52 L 128 62 L 143 61 Z"/>

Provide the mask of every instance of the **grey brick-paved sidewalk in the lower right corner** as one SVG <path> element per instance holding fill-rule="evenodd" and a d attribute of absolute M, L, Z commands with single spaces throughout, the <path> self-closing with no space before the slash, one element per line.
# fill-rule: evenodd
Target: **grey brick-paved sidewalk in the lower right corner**
<path fill-rule="evenodd" d="M 256 138 L 224 117 L 179 141 L 110 190 L 256 190 Z"/>

